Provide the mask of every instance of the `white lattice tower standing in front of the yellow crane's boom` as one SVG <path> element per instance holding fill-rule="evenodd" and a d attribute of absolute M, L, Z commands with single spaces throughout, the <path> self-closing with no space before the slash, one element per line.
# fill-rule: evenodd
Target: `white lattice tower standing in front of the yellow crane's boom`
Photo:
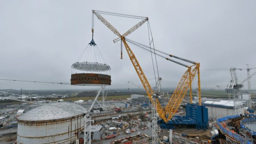
<path fill-rule="evenodd" d="M 157 144 L 157 99 L 152 98 L 152 144 Z"/>

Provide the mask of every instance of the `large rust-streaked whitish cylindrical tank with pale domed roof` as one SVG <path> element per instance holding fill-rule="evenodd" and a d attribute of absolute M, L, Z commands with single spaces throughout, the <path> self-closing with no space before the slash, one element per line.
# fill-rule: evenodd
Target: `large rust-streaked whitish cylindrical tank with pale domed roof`
<path fill-rule="evenodd" d="M 84 129 L 85 112 L 65 102 L 32 109 L 17 118 L 17 144 L 70 144 Z"/>

